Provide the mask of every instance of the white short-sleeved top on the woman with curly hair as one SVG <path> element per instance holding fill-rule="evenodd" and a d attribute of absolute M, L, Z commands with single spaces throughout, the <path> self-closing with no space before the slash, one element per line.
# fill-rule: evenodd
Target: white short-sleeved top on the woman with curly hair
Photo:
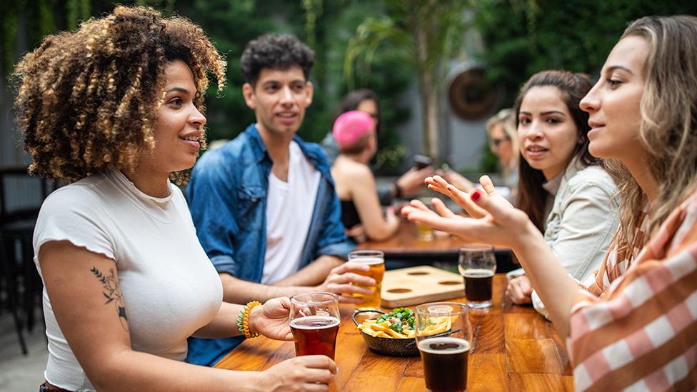
<path fill-rule="evenodd" d="M 34 263 L 43 278 L 38 255 L 48 241 L 67 240 L 113 258 L 132 348 L 182 361 L 186 338 L 214 318 L 223 289 L 196 238 L 184 196 L 176 186 L 170 188 L 170 196 L 154 198 L 111 171 L 58 189 L 41 206 Z M 43 296 L 46 381 L 69 391 L 94 391 L 56 323 L 46 288 Z"/>

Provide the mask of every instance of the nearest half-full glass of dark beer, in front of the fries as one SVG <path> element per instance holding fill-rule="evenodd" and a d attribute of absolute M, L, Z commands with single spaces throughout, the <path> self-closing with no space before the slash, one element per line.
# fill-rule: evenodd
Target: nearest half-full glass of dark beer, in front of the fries
<path fill-rule="evenodd" d="M 472 348 L 469 308 L 462 303 L 426 303 L 416 307 L 416 346 L 421 353 L 426 389 L 465 391 L 467 358 Z"/>

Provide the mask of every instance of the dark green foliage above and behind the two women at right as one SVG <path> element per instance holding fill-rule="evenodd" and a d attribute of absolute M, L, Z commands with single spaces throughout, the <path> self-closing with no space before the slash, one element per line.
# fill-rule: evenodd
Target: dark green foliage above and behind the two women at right
<path fill-rule="evenodd" d="M 506 86 L 505 105 L 532 74 L 544 69 L 593 78 L 628 24 L 642 16 L 697 14 L 693 0 L 473 1 L 488 78 Z"/>

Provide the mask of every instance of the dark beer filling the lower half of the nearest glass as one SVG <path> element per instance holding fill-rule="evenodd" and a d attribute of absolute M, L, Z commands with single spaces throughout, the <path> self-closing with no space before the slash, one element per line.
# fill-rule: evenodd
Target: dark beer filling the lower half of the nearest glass
<path fill-rule="evenodd" d="M 466 390 L 468 341 L 450 336 L 430 338 L 418 342 L 418 351 L 428 391 Z"/>

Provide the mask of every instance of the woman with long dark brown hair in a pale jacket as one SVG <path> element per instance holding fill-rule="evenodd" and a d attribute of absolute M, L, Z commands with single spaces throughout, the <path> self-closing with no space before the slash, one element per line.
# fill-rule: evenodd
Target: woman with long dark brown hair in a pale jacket
<path fill-rule="evenodd" d="M 520 146 L 516 206 L 579 281 L 600 267 L 618 227 L 617 189 L 602 161 L 588 152 L 588 113 L 578 107 L 591 86 L 583 74 L 541 71 L 523 84 L 513 107 Z M 451 196 L 442 179 L 426 182 Z M 506 295 L 514 303 L 532 301 L 546 314 L 523 270 L 511 276 L 518 277 Z"/>

